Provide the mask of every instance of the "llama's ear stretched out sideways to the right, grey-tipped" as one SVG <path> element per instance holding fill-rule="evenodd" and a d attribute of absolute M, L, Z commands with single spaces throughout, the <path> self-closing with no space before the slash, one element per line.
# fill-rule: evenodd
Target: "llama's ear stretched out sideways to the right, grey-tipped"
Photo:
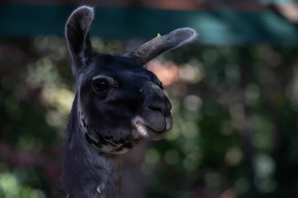
<path fill-rule="evenodd" d="M 171 49 L 189 44 L 197 39 L 198 33 L 191 28 L 180 28 L 164 36 L 157 36 L 139 48 L 124 54 L 124 56 L 137 58 L 145 65 L 151 59 Z"/>

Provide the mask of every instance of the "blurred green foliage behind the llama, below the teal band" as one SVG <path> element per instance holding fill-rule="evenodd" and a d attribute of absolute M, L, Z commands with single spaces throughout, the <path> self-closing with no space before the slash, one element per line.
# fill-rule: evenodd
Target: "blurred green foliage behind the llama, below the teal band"
<path fill-rule="evenodd" d="M 116 54 L 128 45 L 92 44 Z M 148 197 L 298 197 L 297 52 L 191 46 L 158 57 L 178 77 L 165 87 L 174 128 L 140 166 Z M 49 198 L 76 91 L 66 42 L 2 40 L 0 65 L 0 197 Z"/>

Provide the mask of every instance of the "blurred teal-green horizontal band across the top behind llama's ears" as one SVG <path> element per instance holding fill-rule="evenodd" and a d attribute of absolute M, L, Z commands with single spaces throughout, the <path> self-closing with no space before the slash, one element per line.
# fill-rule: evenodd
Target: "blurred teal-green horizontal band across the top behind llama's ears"
<path fill-rule="evenodd" d="M 1 36 L 63 36 L 75 7 L 0 3 Z M 298 27 L 276 13 L 238 10 L 176 11 L 148 8 L 96 7 L 91 36 L 154 38 L 176 28 L 198 30 L 198 44 L 246 45 L 275 43 L 298 45 Z"/>

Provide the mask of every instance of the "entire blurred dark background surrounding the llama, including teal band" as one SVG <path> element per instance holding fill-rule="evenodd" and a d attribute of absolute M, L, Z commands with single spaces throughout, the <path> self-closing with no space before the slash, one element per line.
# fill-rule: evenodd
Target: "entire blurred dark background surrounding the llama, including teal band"
<path fill-rule="evenodd" d="M 174 28 L 200 34 L 148 64 L 174 127 L 125 154 L 124 198 L 298 197 L 295 2 L 70 2 L 0 3 L 0 198 L 51 198 L 76 91 L 64 23 L 91 3 L 99 52 L 124 54 Z"/>

